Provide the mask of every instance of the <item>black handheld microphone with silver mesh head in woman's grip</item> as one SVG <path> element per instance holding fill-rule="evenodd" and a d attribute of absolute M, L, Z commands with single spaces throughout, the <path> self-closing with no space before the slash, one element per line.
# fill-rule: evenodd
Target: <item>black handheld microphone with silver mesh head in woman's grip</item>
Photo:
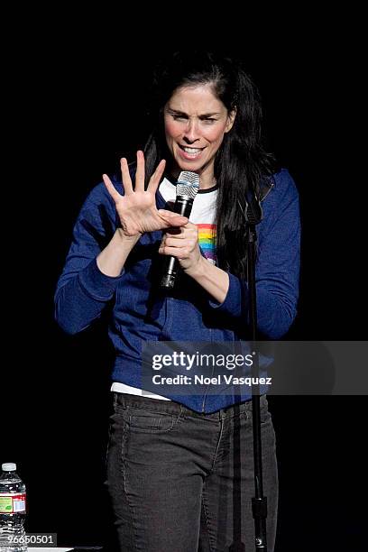
<path fill-rule="evenodd" d="M 176 186 L 176 200 L 173 211 L 181 216 L 189 218 L 194 198 L 199 189 L 199 176 L 197 172 L 182 170 Z M 170 255 L 166 257 L 163 267 L 163 276 L 161 279 L 161 288 L 170 290 L 174 287 L 175 279 L 179 271 L 179 261 L 176 257 Z"/>

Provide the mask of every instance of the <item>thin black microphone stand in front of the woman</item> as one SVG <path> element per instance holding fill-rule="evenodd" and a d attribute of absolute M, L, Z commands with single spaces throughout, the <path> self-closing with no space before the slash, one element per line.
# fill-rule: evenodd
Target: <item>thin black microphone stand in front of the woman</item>
<path fill-rule="evenodd" d="M 253 195 L 248 191 L 246 209 L 238 202 L 247 225 L 245 235 L 247 243 L 247 277 L 249 290 L 249 324 L 251 328 L 251 343 L 253 352 L 253 378 L 259 377 L 259 357 L 255 345 L 257 334 L 257 296 L 255 288 L 255 244 L 257 233 L 255 225 L 262 220 L 262 207 Z M 254 380 L 253 380 L 254 381 Z M 258 380 L 257 380 L 258 381 Z M 254 493 L 252 498 L 252 511 L 254 520 L 254 547 L 255 550 L 267 552 L 267 497 L 263 496 L 262 476 L 262 437 L 261 437 L 261 408 L 259 385 L 252 386 L 252 410 L 253 410 L 253 465 L 254 465 Z M 239 405 L 235 403 L 235 414 L 239 411 Z M 235 419 L 239 419 L 235 416 Z M 240 423 L 234 424 L 234 511 L 241 511 L 241 485 L 240 485 Z M 235 475 L 239 475 L 235 477 Z M 237 518 L 237 520 L 235 520 Z M 245 546 L 241 540 L 241 516 L 234 515 L 234 541 L 229 547 L 229 552 L 244 552 Z"/>

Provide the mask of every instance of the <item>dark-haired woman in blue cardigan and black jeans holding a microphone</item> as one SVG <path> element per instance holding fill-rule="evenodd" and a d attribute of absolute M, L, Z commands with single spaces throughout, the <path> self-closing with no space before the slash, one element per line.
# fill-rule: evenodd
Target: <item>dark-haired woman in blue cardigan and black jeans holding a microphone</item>
<path fill-rule="evenodd" d="M 104 175 L 78 216 L 56 293 L 57 319 L 75 333 L 114 304 L 109 335 L 116 350 L 115 413 L 107 486 L 121 550 L 227 550 L 236 524 L 246 549 L 253 549 L 249 391 L 237 410 L 229 394 L 143 395 L 142 346 L 249 336 L 248 190 L 263 210 L 257 226 L 258 330 L 263 338 L 285 334 L 298 298 L 298 193 L 288 171 L 275 171 L 262 148 L 259 97 L 238 64 L 211 54 L 176 54 L 155 85 L 157 116 L 145 152 L 137 152 L 133 167 L 122 159 L 122 181 Z M 168 208 L 181 171 L 199 177 L 190 220 Z M 165 294 L 160 267 L 168 255 L 178 259 L 181 273 L 179 285 Z M 277 465 L 264 395 L 261 419 L 273 550 Z M 241 432 L 237 466 L 235 424 Z M 241 474 L 240 520 L 234 470 Z"/>

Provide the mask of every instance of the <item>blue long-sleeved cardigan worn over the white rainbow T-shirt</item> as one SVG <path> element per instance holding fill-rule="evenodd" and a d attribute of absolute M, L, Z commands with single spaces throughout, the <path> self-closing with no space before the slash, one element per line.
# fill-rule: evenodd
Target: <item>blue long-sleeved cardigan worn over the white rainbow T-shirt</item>
<path fill-rule="evenodd" d="M 287 170 L 274 174 L 272 180 L 262 201 L 262 222 L 256 226 L 258 329 L 266 339 L 278 339 L 288 331 L 296 315 L 299 289 L 298 191 Z M 114 184 L 123 193 L 121 182 Z M 156 200 L 158 208 L 165 207 L 160 192 Z M 161 232 L 142 236 L 120 276 L 110 277 L 99 271 L 96 257 L 118 224 L 114 201 L 105 185 L 98 184 L 79 213 L 55 294 L 56 319 L 69 334 L 88 327 L 113 301 L 109 325 L 116 351 L 113 381 L 144 389 L 142 345 L 147 341 L 246 339 L 248 289 L 246 282 L 234 274 L 229 273 L 229 289 L 221 304 L 185 274 L 174 293 L 162 295 L 157 291 Z M 198 412 L 214 412 L 235 402 L 229 394 L 209 394 L 206 389 L 196 395 L 156 392 Z M 242 391 L 241 400 L 250 396 L 248 388 Z"/>

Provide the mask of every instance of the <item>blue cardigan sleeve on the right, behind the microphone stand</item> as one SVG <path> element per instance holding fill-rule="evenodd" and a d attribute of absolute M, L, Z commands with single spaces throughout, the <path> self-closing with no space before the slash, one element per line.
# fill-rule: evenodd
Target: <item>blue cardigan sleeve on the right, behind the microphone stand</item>
<path fill-rule="evenodd" d="M 299 295 L 300 218 L 299 196 L 287 170 L 274 176 L 275 184 L 263 201 L 258 225 L 255 270 L 257 327 L 271 339 L 283 336 L 296 316 Z M 249 322 L 249 289 L 246 281 L 229 273 L 223 303 L 210 300 L 211 308 L 242 323 Z"/>

